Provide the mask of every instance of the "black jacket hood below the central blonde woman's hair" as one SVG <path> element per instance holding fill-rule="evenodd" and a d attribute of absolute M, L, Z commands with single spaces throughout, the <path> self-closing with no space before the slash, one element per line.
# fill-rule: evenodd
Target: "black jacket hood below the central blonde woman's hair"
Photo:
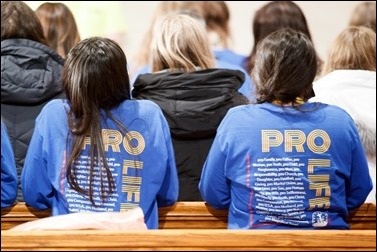
<path fill-rule="evenodd" d="M 228 109 L 248 102 L 238 92 L 244 80 L 228 69 L 148 73 L 136 79 L 132 95 L 161 107 L 173 137 L 212 138 Z"/>

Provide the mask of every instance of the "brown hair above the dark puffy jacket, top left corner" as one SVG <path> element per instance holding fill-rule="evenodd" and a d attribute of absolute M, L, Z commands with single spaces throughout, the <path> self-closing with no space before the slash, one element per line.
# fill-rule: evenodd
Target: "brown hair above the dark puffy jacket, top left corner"
<path fill-rule="evenodd" d="M 34 11 L 22 1 L 1 1 L 1 40 L 30 39 L 48 46 Z"/>

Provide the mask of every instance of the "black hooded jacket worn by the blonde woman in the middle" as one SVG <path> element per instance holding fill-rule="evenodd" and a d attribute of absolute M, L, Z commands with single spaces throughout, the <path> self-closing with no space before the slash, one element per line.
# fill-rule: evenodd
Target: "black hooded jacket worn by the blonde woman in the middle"
<path fill-rule="evenodd" d="M 180 201 L 201 201 L 198 184 L 217 127 L 229 108 L 246 104 L 238 93 L 245 75 L 238 70 L 139 75 L 132 96 L 156 102 L 169 123 L 179 176 Z"/>

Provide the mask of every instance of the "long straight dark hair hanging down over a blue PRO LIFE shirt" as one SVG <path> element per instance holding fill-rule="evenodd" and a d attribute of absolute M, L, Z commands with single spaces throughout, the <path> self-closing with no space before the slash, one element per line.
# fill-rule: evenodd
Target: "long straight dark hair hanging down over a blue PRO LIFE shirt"
<path fill-rule="evenodd" d="M 72 134 L 71 151 L 67 160 L 67 180 L 79 193 L 88 195 L 93 201 L 94 165 L 101 174 L 106 173 L 107 183 L 101 176 L 102 200 L 115 190 L 115 182 L 106 161 L 102 129 L 101 110 L 126 134 L 126 128 L 116 120 L 110 110 L 122 101 L 130 99 L 130 83 L 127 60 L 120 46 L 107 38 L 93 37 L 81 41 L 67 56 L 63 70 L 63 90 L 70 103 L 68 125 Z M 77 180 L 80 157 L 86 137 L 90 136 L 89 189 L 80 187 Z M 106 184 L 108 186 L 106 186 Z"/>

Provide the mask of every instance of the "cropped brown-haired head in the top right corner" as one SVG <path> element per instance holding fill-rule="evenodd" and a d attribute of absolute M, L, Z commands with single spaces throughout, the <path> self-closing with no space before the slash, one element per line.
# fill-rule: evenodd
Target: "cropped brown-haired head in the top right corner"
<path fill-rule="evenodd" d="M 376 32 L 376 2 L 362 2 L 354 9 L 350 26 L 366 26 Z"/>

